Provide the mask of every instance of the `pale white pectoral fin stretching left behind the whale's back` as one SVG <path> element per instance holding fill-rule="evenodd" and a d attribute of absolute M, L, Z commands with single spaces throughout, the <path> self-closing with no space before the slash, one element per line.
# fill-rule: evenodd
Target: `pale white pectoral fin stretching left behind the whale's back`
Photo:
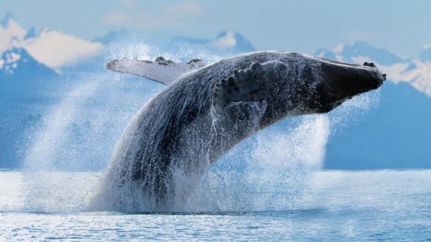
<path fill-rule="evenodd" d="M 158 57 L 154 61 L 123 58 L 106 63 L 106 69 L 143 76 L 165 85 L 170 85 L 191 71 L 205 66 L 206 63 L 200 59 L 193 59 L 189 62 L 174 62 L 163 57 Z"/>

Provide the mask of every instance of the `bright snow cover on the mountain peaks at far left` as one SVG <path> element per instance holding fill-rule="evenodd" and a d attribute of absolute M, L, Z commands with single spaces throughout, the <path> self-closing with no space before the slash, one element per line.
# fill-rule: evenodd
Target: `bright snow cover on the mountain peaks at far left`
<path fill-rule="evenodd" d="M 10 12 L 0 21 L 0 54 L 11 49 L 23 49 L 31 58 L 57 72 L 67 65 L 97 55 L 103 48 L 101 43 L 88 42 L 59 31 L 44 29 L 36 33 L 34 27 L 26 31 Z M 0 61 L 6 63 L 4 59 Z M 11 73 L 10 69 L 6 72 Z"/>

